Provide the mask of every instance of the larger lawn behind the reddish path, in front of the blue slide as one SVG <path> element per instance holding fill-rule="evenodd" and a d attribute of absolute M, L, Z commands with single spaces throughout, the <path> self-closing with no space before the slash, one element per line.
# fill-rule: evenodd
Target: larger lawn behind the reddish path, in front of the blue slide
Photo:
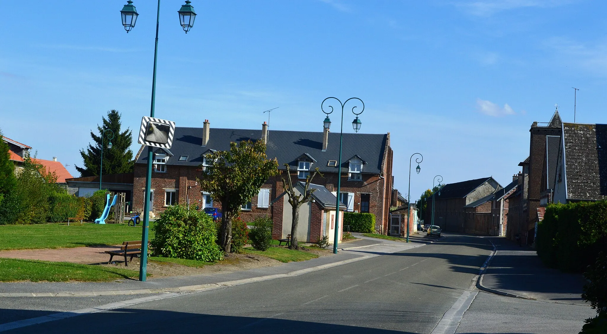
<path fill-rule="evenodd" d="M 154 237 L 150 222 L 149 238 Z M 117 245 L 141 240 L 141 227 L 126 224 L 0 225 L 0 250 Z"/>

